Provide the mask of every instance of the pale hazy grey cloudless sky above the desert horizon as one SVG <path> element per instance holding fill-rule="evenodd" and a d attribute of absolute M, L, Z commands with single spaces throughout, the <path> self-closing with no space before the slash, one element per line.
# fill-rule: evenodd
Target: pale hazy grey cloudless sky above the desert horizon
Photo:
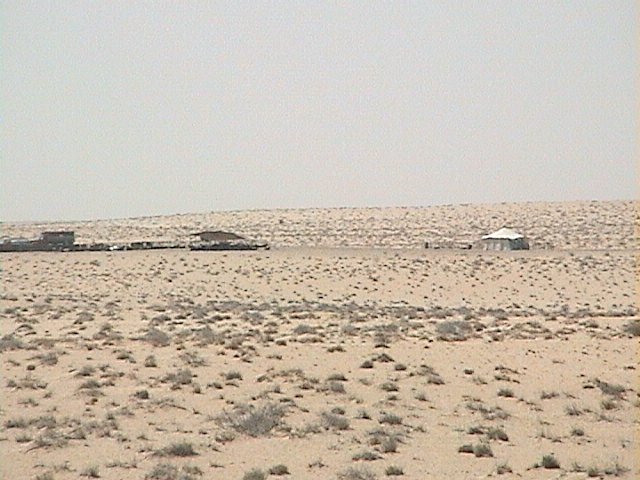
<path fill-rule="evenodd" d="M 638 194 L 638 5 L 0 0 L 0 220 Z"/>

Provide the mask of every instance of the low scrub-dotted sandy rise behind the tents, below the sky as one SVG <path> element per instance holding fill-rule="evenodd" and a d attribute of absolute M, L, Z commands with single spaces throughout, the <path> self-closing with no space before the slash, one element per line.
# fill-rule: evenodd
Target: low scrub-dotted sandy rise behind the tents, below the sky
<path fill-rule="evenodd" d="M 78 242 L 188 241 L 202 230 L 231 230 L 274 247 L 421 248 L 468 244 L 508 225 L 533 248 L 638 248 L 638 204 L 617 202 L 443 205 L 407 208 L 252 210 L 54 223 L 4 223 L 0 235 L 37 237 L 69 229 Z"/>

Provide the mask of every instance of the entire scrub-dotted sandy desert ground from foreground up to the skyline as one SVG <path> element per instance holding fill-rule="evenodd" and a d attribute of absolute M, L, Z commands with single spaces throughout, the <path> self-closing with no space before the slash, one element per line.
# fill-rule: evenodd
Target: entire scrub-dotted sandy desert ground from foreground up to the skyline
<path fill-rule="evenodd" d="M 2 478 L 639 478 L 637 208 L 4 223 L 271 249 L 1 254 Z"/>

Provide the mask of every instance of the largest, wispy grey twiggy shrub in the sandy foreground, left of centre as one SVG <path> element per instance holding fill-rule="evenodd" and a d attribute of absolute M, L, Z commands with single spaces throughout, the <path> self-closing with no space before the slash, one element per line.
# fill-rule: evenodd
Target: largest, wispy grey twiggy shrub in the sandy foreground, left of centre
<path fill-rule="evenodd" d="M 280 405 L 266 403 L 237 406 L 233 412 L 224 412 L 218 423 L 250 437 L 263 437 L 282 423 L 284 409 Z"/>

